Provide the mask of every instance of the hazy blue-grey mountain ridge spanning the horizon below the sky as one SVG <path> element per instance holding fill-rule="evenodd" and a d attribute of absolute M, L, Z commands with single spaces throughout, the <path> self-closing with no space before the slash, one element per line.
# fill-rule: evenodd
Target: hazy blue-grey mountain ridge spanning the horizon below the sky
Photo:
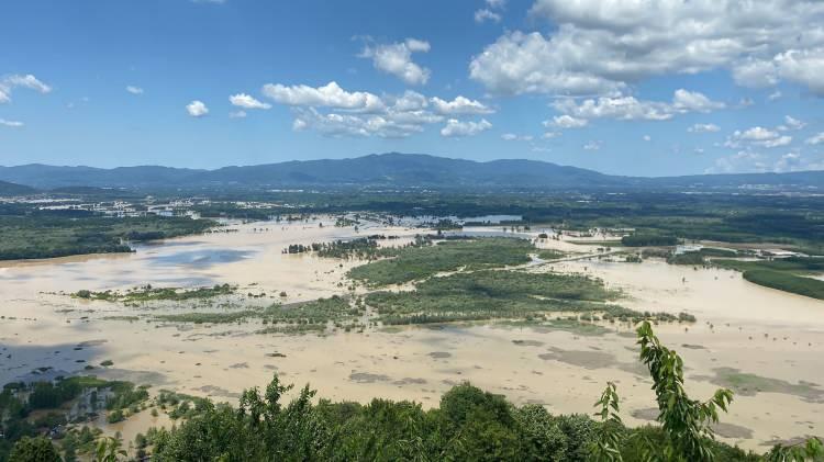
<path fill-rule="evenodd" d="M 431 188 L 590 189 L 738 188 L 747 184 L 824 187 L 824 171 L 703 174 L 644 178 L 610 176 L 538 160 L 479 162 L 421 154 L 372 154 L 348 159 L 292 160 L 215 170 L 158 166 L 56 167 L 32 164 L 0 167 L 0 180 L 38 189 L 96 188 Z"/>

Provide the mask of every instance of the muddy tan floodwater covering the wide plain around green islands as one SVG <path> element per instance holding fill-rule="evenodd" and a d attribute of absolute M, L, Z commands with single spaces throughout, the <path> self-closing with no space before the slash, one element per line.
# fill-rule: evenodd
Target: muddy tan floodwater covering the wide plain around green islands
<path fill-rule="evenodd" d="M 232 223 L 225 228 L 232 232 L 141 246 L 132 255 L 0 263 L 0 382 L 40 367 L 82 373 L 87 364 L 110 360 L 113 365 L 93 373 L 218 401 L 234 402 L 243 388 L 263 386 L 278 373 L 287 383 L 310 383 L 332 399 L 380 396 L 428 407 L 454 384 L 470 381 L 519 404 L 590 413 L 605 382 L 613 381 L 627 424 L 655 418 L 648 373 L 637 362 L 626 325 L 605 324 L 609 333 L 601 335 L 509 324 L 263 335 L 255 333 L 259 320 L 148 322 L 145 307 L 65 295 L 145 284 L 229 283 L 242 293 L 265 295 L 243 303 L 314 300 L 347 293 L 345 273 L 360 262 L 287 255 L 288 245 L 372 234 L 400 236 L 397 243 L 404 243 L 424 232 L 379 224 L 356 230 L 333 223 L 329 217 Z M 500 227 L 468 232 L 508 234 Z M 538 232 L 509 234 L 535 237 Z M 568 240 L 549 239 L 542 247 L 595 253 L 593 246 Z M 764 452 L 764 444 L 824 431 L 824 302 L 750 284 L 733 271 L 605 260 L 546 262 L 528 270 L 590 274 L 621 290 L 623 306 L 694 315 L 694 325 L 662 324 L 656 333 L 684 358 L 693 397 L 709 398 L 719 386 L 736 392 L 717 428 L 725 441 Z M 181 302 L 163 309 L 196 308 Z M 138 415 L 118 429 L 132 435 L 163 422 Z"/>

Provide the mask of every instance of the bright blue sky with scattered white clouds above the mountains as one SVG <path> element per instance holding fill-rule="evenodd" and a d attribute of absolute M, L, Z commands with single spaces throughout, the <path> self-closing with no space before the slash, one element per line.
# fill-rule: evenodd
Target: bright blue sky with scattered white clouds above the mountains
<path fill-rule="evenodd" d="M 824 169 L 813 0 L 10 0 L 0 165 Z"/>

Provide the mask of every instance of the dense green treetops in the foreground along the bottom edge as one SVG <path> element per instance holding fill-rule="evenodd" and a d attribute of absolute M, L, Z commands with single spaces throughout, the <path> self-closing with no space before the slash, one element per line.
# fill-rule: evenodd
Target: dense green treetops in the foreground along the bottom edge
<path fill-rule="evenodd" d="M 236 409 L 203 406 L 177 429 L 155 435 L 152 460 L 590 461 L 601 427 L 586 415 L 554 416 L 541 405 L 517 407 L 469 384 L 455 386 L 430 410 L 387 399 L 367 405 L 321 399 L 313 405 L 309 387 L 283 404 L 288 388 L 275 378 L 265 394 L 247 390 Z M 664 439 L 655 427 L 621 431 Z M 644 448 L 625 441 L 620 448 L 623 459 L 642 460 Z M 723 443 L 705 444 L 720 461 L 758 460 Z"/>

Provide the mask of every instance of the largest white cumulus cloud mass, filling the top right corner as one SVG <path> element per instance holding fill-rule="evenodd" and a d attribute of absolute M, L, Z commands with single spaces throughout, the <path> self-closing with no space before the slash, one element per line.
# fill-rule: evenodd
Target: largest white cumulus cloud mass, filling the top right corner
<path fill-rule="evenodd" d="M 531 16 L 552 32 L 506 32 L 472 58 L 470 77 L 489 91 L 604 94 L 722 68 L 739 84 L 824 94 L 819 0 L 536 0 Z"/>

